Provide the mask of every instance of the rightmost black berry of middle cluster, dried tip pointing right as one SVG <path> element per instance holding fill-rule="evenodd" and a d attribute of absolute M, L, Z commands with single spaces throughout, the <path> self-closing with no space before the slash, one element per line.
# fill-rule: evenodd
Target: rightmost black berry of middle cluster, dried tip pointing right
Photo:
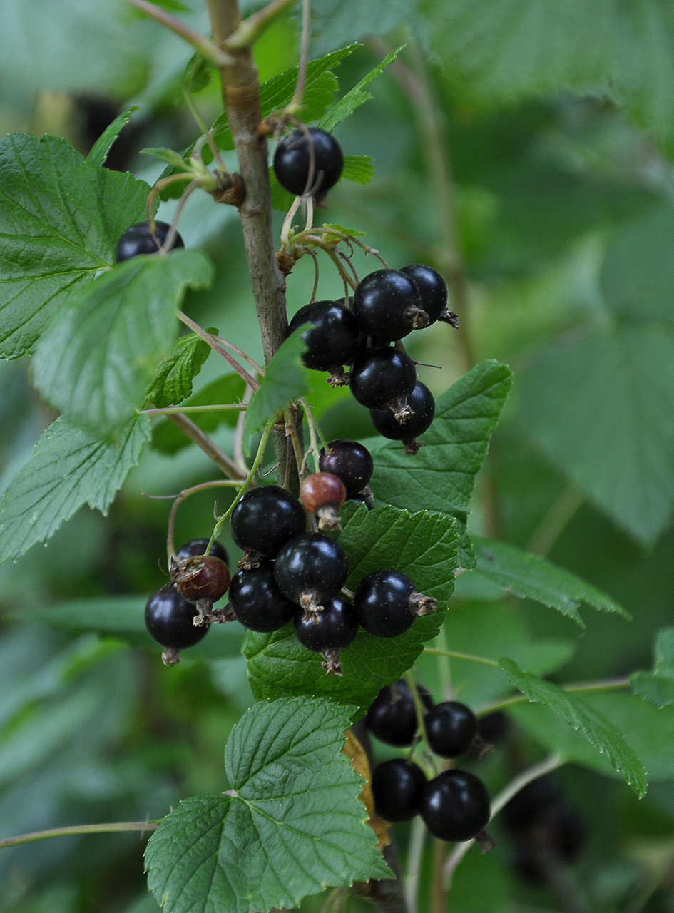
<path fill-rule="evenodd" d="M 414 622 L 410 596 L 415 585 L 397 571 L 369 573 L 353 593 L 353 605 L 363 628 L 376 637 L 397 637 Z"/>

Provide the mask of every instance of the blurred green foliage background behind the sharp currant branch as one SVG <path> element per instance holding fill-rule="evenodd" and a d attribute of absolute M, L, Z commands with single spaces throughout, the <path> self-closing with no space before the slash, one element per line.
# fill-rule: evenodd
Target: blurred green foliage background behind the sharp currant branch
<path fill-rule="evenodd" d="M 190 5 L 195 12 L 180 15 L 206 31 L 198 0 Z M 637 6 L 648 6 L 641 18 Z M 653 636 L 674 618 L 674 14 L 655 2 L 608 7 L 595 22 L 594 5 L 581 0 L 321 0 L 314 17 L 312 56 L 364 39 L 339 68 L 342 91 L 408 42 L 403 68 L 377 79 L 374 100 L 337 128 L 344 152 L 373 156 L 376 173 L 364 188 L 335 188 L 325 220 L 366 232 L 393 267 L 445 270 L 462 331 L 436 324 L 411 343 L 418 361 L 439 366 L 420 369 L 435 393 L 484 358 L 515 372 L 471 529 L 548 554 L 633 615 L 629 624 L 586 613 L 579 634 L 542 606 L 484 602 L 490 594 L 471 593 L 464 579 L 450 643 L 479 653 L 480 636 L 545 641 L 557 665 L 565 662 L 559 680 L 650 666 Z M 559 21 L 562 10 L 575 18 Z M 86 153 L 117 113 L 138 104 L 108 164 L 150 181 L 163 165 L 142 148 L 181 150 L 194 139 L 180 94 L 190 48 L 131 7 L 3 0 L 0 24 L 0 133 L 50 132 Z M 293 66 L 297 47 L 290 11 L 258 42 L 260 78 Z M 196 103 L 205 121 L 215 119 L 216 80 Z M 173 206 L 163 204 L 160 217 Z M 217 268 L 214 288 L 191 295 L 184 310 L 260 358 L 236 213 L 195 194 L 179 227 Z M 356 260 L 360 275 L 376 268 Z M 312 281 L 311 262 L 300 261 L 288 282 L 290 314 L 309 300 Z M 340 288 L 323 264 L 319 297 Z M 0 493 L 54 417 L 31 391 L 29 370 L 27 359 L 0 363 Z M 221 373 L 212 356 L 196 389 Z M 371 434 L 365 410 L 321 377 L 310 402 L 327 436 Z M 213 436 L 231 448 L 231 427 Z M 175 456 L 147 448 L 108 518 L 82 509 L 46 549 L 0 568 L 0 836 L 161 817 L 184 796 L 226 789 L 227 734 L 252 701 L 241 632 L 213 631 L 166 669 L 142 628 L 142 605 L 165 581 L 158 562 L 170 504 L 142 493 L 176 493 L 208 477 L 195 446 Z M 207 536 L 212 509 L 207 493 L 185 502 L 177 541 Z M 223 542 L 236 561 L 236 547 Z M 114 598 L 119 624 L 110 610 L 100 623 L 100 597 Z M 459 694 L 473 706 L 504 690 L 502 679 L 485 689 L 455 665 Z M 435 667 L 419 669 L 438 698 Z M 542 756 L 535 725 L 525 724 L 513 717 L 506 740 L 480 762 L 494 791 Z M 375 746 L 377 757 L 386 751 Z M 587 831 L 574 869 L 584 908 L 674 910 L 673 780 L 674 761 L 661 764 L 637 803 L 597 772 L 561 772 Z M 513 849 L 496 831 L 492 854 L 471 852 L 459 867 L 450 908 L 572 909 L 559 893 L 518 880 Z M 401 826 L 403 855 L 408 834 Z M 0 913 L 155 913 L 143 847 L 139 834 L 117 834 L 4 849 Z M 307 900 L 307 910 L 323 899 Z"/>

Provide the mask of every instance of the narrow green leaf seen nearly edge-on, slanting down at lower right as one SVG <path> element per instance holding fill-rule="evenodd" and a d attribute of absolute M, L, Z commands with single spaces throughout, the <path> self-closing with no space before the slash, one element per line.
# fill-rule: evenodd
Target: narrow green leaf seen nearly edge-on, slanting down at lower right
<path fill-rule="evenodd" d="M 534 703 L 549 707 L 574 729 L 580 730 L 600 754 L 606 752 L 606 757 L 613 767 L 623 774 L 639 798 L 646 794 L 646 771 L 634 750 L 627 744 L 625 736 L 613 723 L 585 703 L 583 698 L 572 697 L 553 682 L 546 682 L 528 672 L 522 672 L 511 659 L 502 657 L 499 662 L 518 691 Z"/>

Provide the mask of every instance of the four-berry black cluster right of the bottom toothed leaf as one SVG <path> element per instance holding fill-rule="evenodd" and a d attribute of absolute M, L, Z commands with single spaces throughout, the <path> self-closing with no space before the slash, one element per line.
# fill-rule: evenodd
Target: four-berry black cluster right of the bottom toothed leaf
<path fill-rule="evenodd" d="M 434 705 L 423 686 L 418 697 L 426 708 L 424 729 L 429 748 L 441 758 L 458 758 L 469 750 L 489 750 L 479 736 L 472 710 L 458 701 Z M 367 728 L 389 745 L 403 748 L 416 739 L 414 696 L 400 679 L 383 687 L 367 711 Z M 493 845 L 485 827 L 490 820 L 490 795 L 484 783 L 469 771 L 452 769 L 432 780 L 414 761 L 394 758 L 378 764 L 372 775 L 374 809 L 386 821 L 411 821 L 420 814 L 428 830 L 440 840 L 477 838 L 483 849 Z"/>

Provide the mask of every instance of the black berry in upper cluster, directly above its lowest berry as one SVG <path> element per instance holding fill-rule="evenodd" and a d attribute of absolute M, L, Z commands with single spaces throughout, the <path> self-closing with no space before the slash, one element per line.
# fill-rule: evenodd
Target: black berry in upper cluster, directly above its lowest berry
<path fill-rule="evenodd" d="M 384 409 L 399 396 L 411 394 L 415 383 L 414 362 L 391 346 L 367 349 L 353 362 L 349 375 L 353 397 L 368 409 Z"/>

